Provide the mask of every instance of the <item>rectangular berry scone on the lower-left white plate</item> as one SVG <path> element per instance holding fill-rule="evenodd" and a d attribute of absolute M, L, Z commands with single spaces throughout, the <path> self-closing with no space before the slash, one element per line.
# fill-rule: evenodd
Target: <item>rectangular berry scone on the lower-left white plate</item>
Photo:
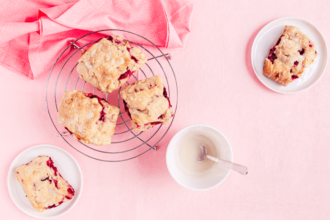
<path fill-rule="evenodd" d="M 74 189 L 61 176 L 48 156 L 39 156 L 15 171 L 32 207 L 43 212 L 55 208 L 74 196 Z"/>

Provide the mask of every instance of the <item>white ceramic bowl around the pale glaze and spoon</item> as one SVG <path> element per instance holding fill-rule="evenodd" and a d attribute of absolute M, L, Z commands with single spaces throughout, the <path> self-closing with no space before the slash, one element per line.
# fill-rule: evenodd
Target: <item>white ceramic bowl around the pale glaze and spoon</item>
<path fill-rule="evenodd" d="M 166 164 L 173 179 L 181 186 L 196 191 L 205 191 L 220 185 L 229 175 L 230 170 L 215 164 L 210 170 L 199 175 L 187 173 L 179 163 L 178 148 L 190 134 L 204 135 L 213 141 L 220 159 L 233 161 L 233 152 L 226 136 L 216 128 L 207 125 L 193 125 L 179 131 L 167 147 Z"/>

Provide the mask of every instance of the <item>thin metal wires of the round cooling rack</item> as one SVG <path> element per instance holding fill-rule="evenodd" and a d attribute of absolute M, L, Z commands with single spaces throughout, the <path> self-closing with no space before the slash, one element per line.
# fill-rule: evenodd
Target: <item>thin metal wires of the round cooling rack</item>
<path fill-rule="evenodd" d="M 87 47 L 87 46 L 89 46 L 89 45 L 91 45 L 91 44 L 93 44 L 93 43 L 98 42 L 98 41 L 101 40 L 103 37 L 101 37 L 101 38 L 99 38 L 99 39 L 96 39 L 96 40 L 94 40 L 94 41 L 91 41 L 91 42 L 89 42 L 89 43 L 86 43 L 86 44 L 84 44 L 84 45 L 80 45 L 80 46 L 78 46 L 76 43 L 77 43 L 80 39 L 82 39 L 82 38 L 84 38 L 84 37 L 86 37 L 86 36 L 88 36 L 88 35 L 92 35 L 92 34 L 100 33 L 100 32 L 105 32 L 105 31 L 119 31 L 119 32 L 126 32 L 126 33 L 129 33 L 129 34 L 133 34 L 133 35 L 135 35 L 135 36 L 141 37 L 141 38 L 143 38 L 145 41 L 147 41 L 150 45 L 152 45 L 152 46 L 156 49 L 156 51 L 160 52 L 161 55 L 159 55 L 159 56 L 155 56 L 152 52 L 150 52 L 150 50 L 148 50 L 146 47 L 142 46 L 141 44 L 138 44 L 138 43 L 136 43 L 136 42 L 134 42 L 134 41 L 130 41 L 130 40 L 125 39 L 126 41 L 128 41 L 128 42 L 130 42 L 130 43 L 133 43 L 133 44 L 139 46 L 139 47 L 142 48 L 144 51 L 146 51 L 147 54 L 151 55 L 151 58 L 149 58 L 148 61 L 150 61 L 150 60 L 154 60 L 154 61 L 156 61 L 157 64 L 160 66 L 160 68 L 161 68 L 161 70 L 163 71 L 163 74 L 164 74 L 164 76 L 165 76 L 165 79 L 166 79 L 167 85 L 168 85 L 168 86 L 167 86 L 167 91 L 168 91 L 168 96 L 169 96 L 169 98 L 171 97 L 171 89 L 170 89 L 170 86 L 169 86 L 169 81 L 168 81 L 167 74 L 173 74 L 173 77 L 174 77 L 174 80 L 175 80 L 175 86 L 176 86 L 176 94 L 175 94 L 175 95 L 176 95 L 177 99 L 176 99 L 176 105 L 175 105 L 175 109 L 174 109 L 174 117 L 171 119 L 171 122 L 170 122 L 170 124 L 168 125 L 168 128 L 166 129 L 165 133 L 164 133 L 164 134 L 159 138 L 159 140 L 158 140 L 155 144 L 153 144 L 152 146 L 148 143 L 148 141 L 151 140 L 151 139 L 152 139 L 152 138 L 153 138 L 153 137 L 159 132 L 159 130 L 161 129 L 162 125 L 158 126 L 157 130 L 156 130 L 156 128 L 153 128 L 153 129 L 155 130 L 155 132 L 154 132 L 154 133 L 153 133 L 153 134 L 152 134 L 147 140 L 144 141 L 144 140 L 142 140 L 142 139 L 139 137 L 143 132 L 139 132 L 138 134 L 135 134 L 135 133 L 132 131 L 133 128 L 130 128 L 130 127 L 128 126 L 127 123 L 130 123 L 130 119 L 128 119 L 128 120 L 125 121 L 125 119 L 124 119 L 124 117 L 123 117 L 123 115 L 126 114 L 126 113 L 125 113 L 125 110 L 122 111 L 122 112 L 120 112 L 119 116 L 120 116 L 122 122 L 121 122 L 121 123 L 118 123 L 117 126 L 125 125 L 125 127 L 126 127 L 127 130 L 125 130 L 125 131 L 123 131 L 123 132 L 118 132 L 118 133 L 115 132 L 114 135 L 120 135 L 120 134 L 124 134 L 124 133 L 128 133 L 128 132 L 129 132 L 129 133 L 131 133 L 131 134 L 133 135 L 133 137 L 128 138 L 128 139 L 125 139 L 125 140 L 120 140 L 120 141 L 117 141 L 117 142 L 112 142 L 111 144 L 120 144 L 120 143 L 128 142 L 128 141 L 133 140 L 133 139 L 138 139 L 140 142 L 142 142 L 140 145 L 138 145 L 138 146 L 136 146 L 136 147 L 133 147 L 133 148 L 131 148 L 131 149 L 128 149 L 128 150 L 123 150 L 123 151 L 103 151 L 103 150 L 99 150 L 99 149 L 92 148 L 92 147 L 90 147 L 90 146 L 88 146 L 88 145 L 86 145 L 86 144 L 83 144 L 82 142 L 79 142 L 79 143 L 80 143 L 81 145 L 83 145 L 84 147 L 86 147 L 86 148 L 88 148 L 88 149 L 91 149 L 91 150 L 93 150 L 93 151 L 95 151 L 95 152 L 99 152 L 99 153 L 101 153 L 101 154 L 125 154 L 125 153 L 127 153 L 127 152 L 137 150 L 138 148 L 140 148 L 140 147 L 143 146 L 143 145 L 146 145 L 146 146 L 149 147 L 147 150 L 143 151 L 142 153 L 139 153 L 138 155 L 135 155 L 135 156 L 133 156 L 133 157 L 129 157 L 129 158 L 126 158 L 126 159 L 119 159 L 119 160 L 106 160 L 106 159 L 100 159 L 100 158 L 98 158 L 98 157 L 91 156 L 91 155 L 89 155 L 89 154 L 87 154 L 87 153 L 84 153 L 84 152 L 81 151 L 81 149 L 78 149 L 77 147 L 74 147 L 72 144 L 70 144 L 70 143 L 68 142 L 68 140 L 66 140 L 66 138 L 65 138 L 65 136 L 68 135 L 69 133 L 61 133 L 61 132 L 58 130 L 58 128 L 56 127 L 56 125 L 55 125 L 55 123 L 54 123 L 53 117 L 52 117 L 52 115 L 51 115 L 51 113 L 50 113 L 50 106 L 49 106 L 49 103 L 48 103 L 48 95 L 51 94 L 51 91 L 48 90 L 48 88 L 49 88 L 49 84 L 50 84 L 50 77 L 51 77 L 51 75 L 54 73 L 54 72 L 53 72 L 53 69 L 54 69 L 55 65 L 59 62 L 60 58 L 63 56 L 63 54 L 66 52 L 66 50 L 70 49 L 70 47 L 72 47 L 72 46 L 73 46 L 74 48 L 76 48 L 76 49 L 74 50 L 74 52 L 73 52 L 72 54 L 70 54 L 69 57 L 64 61 L 63 65 L 62 65 L 62 67 L 60 68 L 60 71 L 59 71 L 59 73 L 58 73 L 58 75 L 57 75 L 57 78 L 56 78 L 55 89 L 54 89 L 54 101 L 55 101 L 56 112 L 58 112 L 58 100 L 57 100 L 57 98 L 56 98 L 56 94 L 57 94 L 57 92 L 58 92 L 58 90 L 57 90 L 57 86 L 58 86 L 58 82 L 59 82 L 60 75 L 62 74 L 62 71 L 63 71 L 64 67 L 66 66 L 66 64 L 68 63 L 68 61 L 69 61 L 69 60 L 70 60 L 70 59 L 71 59 L 71 58 L 72 58 L 72 57 L 73 57 L 73 56 L 74 56 L 79 50 L 84 51 L 84 49 L 83 49 L 84 47 Z M 51 70 L 50 70 L 50 72 L 49 72 L 48 79 L 47 79 L 47 85 L 46 85 L 46 107 L 47 107 L 47 112 L 48 112 L 48 115 L 49 115 L 49 117 L 50 117 L 50 120 L 51 120 L 51 122 L 52 122 L 54 128 L 55 128 L 56 131 L 58 132 L 59 136 L 61 136 L 61 137 L 63 138 L 63 140 L 64 140 L 67 144 L 69 144 L 72 148 L 74 148 L 75 150 L 77 150 L 77 151 L 80 152 L 81 154 L 83 154 L 83 155 L 85 155 L 85 156 L 87 156 L 87 157 L 89 157 L 89 158 L 92 158 L 92 159 L 95 159 L 95 160 L 98 160 L 98 161 L 104 161 L 104 162 L 122 162 L 122 161 L 127 161 L 127 160 L 131 160 L 131 159 L 137 158 L 137 157 L 139 157 L 139 156 L 141 156 L 141 155 L 147 153 L 147 152 L 150 151 L 150 150 L 157 150 L 157 149 L 158 149 L 157 144 L 158 144 L 158 143 L 164 138 L 164 136 L 167 134 L 167 132 L 169 131 L 169 129 L 170 129 L 170 127 L 171 127 L 171 125 L 172 125 L 172 123 L 173 123 L 173 121 L 174 121 L 174 118 L 175 118 L 175 115 L 176 115 L 176 111 L 177 111 L 177 106 L 178 106 L 178 85 L 177 85 L 177 80 L 176 80 L 176 76 L 175 76 L 175 72 L 174 72 L 174 70 L 173 70 L 173 67 L 172 67 L 170 61 L 169 61 L 168 58 L 167 58 L 167 55 L 168 55 L 168 54 L 164 54 L 164 53 L 163 53 L 163 52 L 162 52 L 162 51 L 161 51 L 161 50 L 160 50 L 160 49 L 159 49 L 154 43 L 152 43 L 152 42 L 151 42 L 150 40 L 148 40 L 147 38 L 145 38 L 145 37 L 143 37 L 143 36 L 141 36 L 141 35 L 138 35 L 138 34 L 136 34 L 136 33 L 133 33 L 133 32 L 130 32 L 130 31 L 126 31 L 126 30 L 121 30 L 121 29 L 104 29 L 104 30 L 94 31 L 94 32 L 91 32 L 91 33 L 85 34 L 85 35 L 81 36 L 80 38 L 76 39 L 75 41 L 71 42 L 71 44 L 70 44 L 69 46 L 67 46 L 67 47 L 63 50 L 63 52 L 57 57 L 56 61 L 54 62 L 53 66 L 52 66 L 52 68 L 51 68 Z M 158 60 L 158 59 L 164 59 L 164 60 L 166 60 L 166 62 L 169 64 L 169 67 L 170 67 L 170 69 L 171 69 L 171 73 L 166 73 L 165 69 L 163 68 L 163 66 L 162 66 L 162 64 L 161 64 L 161 62 L 160 62 L 160 60 Z M 153 61 L 153 62 L 154 62 L 154 61 Z M 66 80 L 66 84 L 65 84 L 65 88 L 64 88 L 65 91 L 67 91 L 67 87 L 68 87 L 69 79 L 70 79 L 70 77 L 71 77 L 71 75 L 72 75 L 74 69 L 77 67 L 77 65 L 78 65 L 78 62 L 73 66 L 73 68 L 71 69 L 71 71 L 70 71 L 69 74 L 68 74 L 68 78 L 67 78 L 67 80 Z M 154 76 L 155 73 L 154 73 L 153 69 L 151 68 L 151 66 L 148 64 L 148 62 L 146 62 L 144 65 L 148 68 L 148 70 L 150 70 L 150 72 L 151 72 L 152 75 Z M 146 75 L 146 73 L 145 73 L 142 69 L 140 69 L 139 71 L 143 74 L 143 76 L 144 76 L 145 78 L 148 78 L 147 75 Z M 169 72 L 169 71 L 168 71 L 168 72 Z M 55 74 L 56 74 L 56 73 L 55 73 Z M 137 79 L 137 77 L 136 77 L 135 75 L 132 75 L 132 77 L 135 79 L 135 81 L 138 81 L 138 79 Z M 132 78 L 132 77 L 131 77 L 131 78 Z M 79 79 L 80 79 L 80 78 L 79 78 L 79 76 L 78 76 L 78 78 L 77 78 L 77 80 L 76 80 L 76 82 L 75 82 L 75 85 L 74 85 L 74 90 L 79 90 L 79 88 L 78 88 L 78 81 L 79 81 Z M 86 82 L 84 81 L 84 82 L 83 82 L 83 85 L 82 85 L 82 87 L 81 87 L 81 91 L 84 90 L 85 84 L 86 84 Z M 129 85 L 128 82 L 127 82 L 126 84 Z M 120 107 L 121 107 L 121 103 L 120 103 L 120 90 L 121 90 L 121 88 L 119 89 L 119 92 L 118 92 L 118 98 L 117 98 L 117 100 L 118 100 L 118 108 L 119 108 L 119 109 L 120 109 Z M 65 91 L 64 91 L 64 92 L 65 92 Z M 95 91 L 95 87 L 93 87 L 93 91 L 92 91 L 93 94 L 94 94 L 94 91 Z M 106 95 L 105 100 L 108 101 L 108 94 Z"/>

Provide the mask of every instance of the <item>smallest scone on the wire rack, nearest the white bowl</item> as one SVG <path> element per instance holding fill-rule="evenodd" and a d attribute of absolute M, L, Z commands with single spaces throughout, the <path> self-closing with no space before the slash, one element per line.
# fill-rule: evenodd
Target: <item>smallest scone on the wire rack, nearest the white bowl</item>
<path fill-rule="evenodd" d="M 166 124 L 174 116 L 160 76 L 135 82 L 120 91 L 120 95 L 135 131 L 146 131 L 155 125 Z"/>

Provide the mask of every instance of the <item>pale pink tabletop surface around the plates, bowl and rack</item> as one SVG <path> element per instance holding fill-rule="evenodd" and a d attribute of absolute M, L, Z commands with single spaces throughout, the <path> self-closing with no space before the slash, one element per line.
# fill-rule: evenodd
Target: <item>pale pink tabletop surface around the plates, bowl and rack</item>
<path fill-rule="evenodd" d="M 11 201 L 7 172 L 21 151 L 49 143 L 70 152 L 84 175 L 80 200 L 58 219 L 329 219 L 329 67 L 309 90 L 283 95 L 263 86 L 250 63 L 254 37 L 277 18 L 304 18 L 329 43 L 329 7 L 326 0 L 195 1 L 187 44 L 165 50 L 180 87 L 173 127 L 157 152 L 124 163 L 93 161 L 57 138 L 46 113 L 47 73 L 31 81 L 0 67 L 0 218 L 32 219 Z M 232 172 L 207 192 L 171 178 L 170 139 L 199 123 L 227 136 L 247 176 Z"/>

